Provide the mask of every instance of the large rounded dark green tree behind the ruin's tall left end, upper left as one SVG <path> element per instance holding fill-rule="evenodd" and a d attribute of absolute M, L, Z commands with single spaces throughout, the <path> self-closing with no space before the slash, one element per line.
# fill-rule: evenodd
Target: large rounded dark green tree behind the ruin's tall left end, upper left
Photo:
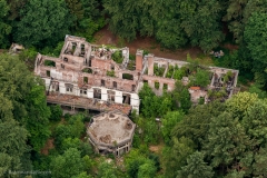
<path fill-rule="evenodd" d="M 55 46 L 69 33 L 69 17 L 65 0 L 29 0 L 21 9 L 14 39 L 24 46 Z"/>

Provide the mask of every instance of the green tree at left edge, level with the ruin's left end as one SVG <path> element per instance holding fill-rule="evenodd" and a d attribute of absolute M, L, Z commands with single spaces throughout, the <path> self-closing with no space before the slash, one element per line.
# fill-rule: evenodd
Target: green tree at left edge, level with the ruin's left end
<path fill-rule="evenodd" d="M 23 79 L 23 80 L 22 80 Z M 17 56 L 0 55 L 0 98 L 2 119 L 11 116 L 20 122 L 27 117 L 24 100 L 36 85 L 33 76 Z M 2 97 L 1 97 L 2 96 Z"/>

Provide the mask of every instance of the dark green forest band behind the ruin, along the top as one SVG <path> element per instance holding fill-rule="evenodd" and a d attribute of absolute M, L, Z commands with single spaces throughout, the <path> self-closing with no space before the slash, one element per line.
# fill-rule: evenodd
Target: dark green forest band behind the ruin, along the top
<path fill-rule="evenodd" d="M 152 37 L 171 50 L 207 53 L 230 42 L 238 50 L 222 65 L 266 90 L 266 0 L 0 0 L 0 48 L 18 42 L 52 55 L 67 33 L 92 41 L 103 26 L 121 39 Z"/>

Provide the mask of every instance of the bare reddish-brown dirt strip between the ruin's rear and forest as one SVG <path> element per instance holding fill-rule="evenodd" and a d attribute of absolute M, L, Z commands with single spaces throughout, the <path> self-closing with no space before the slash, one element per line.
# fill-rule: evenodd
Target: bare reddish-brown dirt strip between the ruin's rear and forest
<path fill-rule="evenodd" d="M 137 37 L 136 40 L 131 42 L 125 42 L 123 40 L 116 37 L 108 30 L 108 27 L 105 27 L 100 31 L 95 34 L 97 44 L 115 44 L 117 47 L 128 47 L 131 55 L 135 55 L 137 49 L 144 49 L 154 53 L 156 57 L 169 58 L 169 59 L 178 59 L 186 60 L 187 53 L 190 53 L 191 58 L 197 58 L 201 52 L 199 48 L 186 48 L 179 50 L 167 50 L 160 48 L 160 44 L 154 39 L 149 37 Z"/>

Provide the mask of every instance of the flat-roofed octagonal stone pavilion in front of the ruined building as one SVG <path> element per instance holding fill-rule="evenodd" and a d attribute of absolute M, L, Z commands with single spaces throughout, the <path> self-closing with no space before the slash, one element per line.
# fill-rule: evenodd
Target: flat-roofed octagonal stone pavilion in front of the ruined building
<path fill-rule="evenodd" d="M 131 148 L 135 128 L 127 115 L 115 110 L 92 117 L 87 134 L 97 152 L 121 156 Z"/>

